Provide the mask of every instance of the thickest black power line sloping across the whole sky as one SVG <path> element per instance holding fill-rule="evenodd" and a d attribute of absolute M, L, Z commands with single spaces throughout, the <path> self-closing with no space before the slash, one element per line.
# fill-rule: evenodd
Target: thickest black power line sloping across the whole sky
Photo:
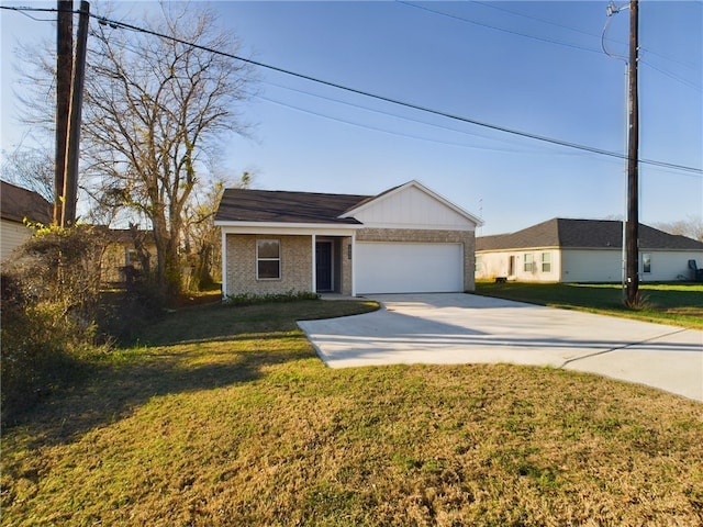
<path fill-rule="evenodd" d="M 404 2 L 401 2 L 401 3 L 404 3 Z M 412 5 L 412 4 L 410 4 L 410 5 Z M 2 8 L 2 9 L 13 9 L 15 11 L 21 11 L 21 10 L 24 10 L 24 9 L 26 9 L 26 10 L 35 10 L 35 8 L 7 8 L 7 7 L 3 7 L 3 5 L 0 5 L 0 8 Z M 42 11 L 54 11 L 55 12 L 56 10 L 54 9 L 54 10 L 42 10 Z M 599 155 L 602 155 L 602 156 L 609 156 L 609 157 L 614 157 L 614 158 L 618 158 L 618 159 L 627 159 L 627 155 L 624 155 L 624 154 L 621 154 L 621 153 L 617 153 L 617 152 L 612 152 L 612 150 L 606 150 L 604 148 L 598 148 L 598 147 L 593 147 L 593 146 L 582 145 L 582 144 L 579 144 L 579 143 L 573 143 L 573 142 L 569 142 L 569 141 L 565 141 L 565 139 L 558 139 L 558 138 L 555 138 L 555 137 L 548 137 L 548 136 L 545 136 L 545 135 L 539 135 L 539 134 L 535 134 L 535 133 L 531 133 L 531 132 L 524 132 L 524 131 L 520 131 L 520 130 L 514 130 L 514 128 L 510 128 L 507 126 L 502 126 L 502 125 L 499 125 L 499 124 L 488 123 L 488 122 L 484 122 L 484 121 L 478 121 L 478 120 L 475 120 L 475 119 L 466 117 L 466 116 L 462 116 L 462 115 L 457 115 L 457 114 L 449 113 L 449 112 L 446 112 L 446 111 L 436 110 L 436 109 L 432 109 L 432 108 L 428 108 L 428 106 L 423 106 L 421 104 L 415 104 L 415 103 L 412 103 L 412 102 L 406 102 L 406 101 L 401 101 L 399 99 L 393 99 L 393 98 L 390 98 L 390 97 L 387 97 L 387 96 L 372 93 L 370 91 L 361 90 L 361 89 L 358 89 L 358 88 L 352 88 L 352 87 L 344 86 L 344 85 L 341 85 L 341 83 L 337 83 L 337 82 L 332 82 L 330 80 L 320 79 L 317 77 L 313 77 L 313 76 L 310 76 L 310 75 L 300 74 L 298 71 L 293 71 L 293 70 L 290 70 L 290 69 L 286 69 L 286 68 L 281 68 L 281 67 L 278 67 L 278 66 L 272 66 L 272 65 L 269 65 L 269 64 L 266 64 L 266 63 L 261 63 L 260 60 L 254 60 L 254 59 L 250 59 L 250 58 L 244 58 L 244 57 L 241 57 L 241 56 L 232 54 L 232 53 L 223 52 L 223 51 L 220 51 L 220 49 L 214 49 L 214 48 L 211 48 L 211 47 L 208 47 L 208 46 L 203 46 L 203 45 L 200 45 L 200 44 L 196 44 L 196 43 L 191 43 L 191 42 L 185 41 L 182 38 L 178 38 L 178 37 L 172 36 L 172 35 L 166 35 L 166 34 L 153 31 L 153 30 L 140 27 L 140 26 L 133 25 L 133 24 L 127 24 L 125 22 L 119 22 L 116 20 L 107 19 L 104 16 L 100 16 L 100 15 L 97 15 L 97 14 L 92 14 L 91 13 L 90 16 L 96 19 L 98 21 L 98 23 L 101 24 L 101 25 L 109 25 L 110 27 L 113 27 L 113 29 L 131 30 L 131 31 L 135 31 L 135 32 L 138 32 L 138 33 L 144 33 L 144 34 L 147 34 L 147 35 L 152 35 L 152 36 L 157 36 L 159 38 L 166 38 L 166 40 L 169 40 L 171 42 L 177 42 L 179 44 L 193 47 L 196 49 L 201 49 L 201 51 L 204 51 L 204 52 L 208 52 L 208 53 L 213 53 L 213 54 L 216 54 L 216 55 L 220 55 L 220 56 L 233 58 L 235 60 L 241 60 L 241 61 L 249 64 L 252 66 L 257 66 L 257 67 L 265 68 L 265 69 L 271 70 L 271 71 L 276 71 L 276 72 L 279 72 L 279 74 L 284 74 L 284 75 L 288 75 L 288 76 L 291 76 L 291 77 L 295 77 L 295 78 L 299 78 L 299 79 L 308 80 L 310 82 L 315 82 L 317 85 L 327 86 L 330 88 L 335 88 L 335 89 L 338 89 L 338 90 L 347 91 L 349 93 L 355 93 L 355 94 L 358 94 L 358 96 L 368 97 L 370 99 L 376 99 L 376 100 L 388 102 L 388 103 L 395 104 L 395 105 L 399 105 L 399 106 L 409 108 L 411 110 L 416 110 L 416 111 L 420 111 L 420 112 L 429 113 L 429 114 L 433 114 L 433 115 L 438 115 L 438 116 L 442 116 L 442 117 L 445 117 L 445 119 L 449 119 L 449 120 L 453 120 L 453 121 L 473 124 L 476 126 L 481 126 L 481 127 L 484 127 L 484 128 L 494 130 L 496 132 L 502 132 L 502 133 L 505 133 L 505 134 L 516 135 L 516 136 L 520 136 L 520 137 L 526 137 L 526 138 L 534 139 L 534 141 L 539 141 L 539 142 L 543 142 L 543 143 L 549 143 L 549 144 L 562 146 L 562 147 L 566 147 L 566 148 L 573 148 L 573 149 L 577 149 L 577 150 L 589 152 L 589 153 L 592 153 L 592 154 L 599 154 Z M 598 53 L 600 53 L 600 52 L 598 52 Z M 684 166 L 684 165 L 678 165 L 678 164 L 673 164 L 673 162 L 658 161 L 658 160 L 652 160 L 652 159 L 638 159 L 638 161 L 641 162 L 641 164 L 646 164 L 646 165 L 652 165 L 652 166 L 662 167 L 662 168 L 670 168 L 670 169 L 681 170 L 681 171 L 685 171 L 685 172 L 703 173 L 703 169 L 701 169 L 701 168 L 688 167 L 688 166 Z"/>

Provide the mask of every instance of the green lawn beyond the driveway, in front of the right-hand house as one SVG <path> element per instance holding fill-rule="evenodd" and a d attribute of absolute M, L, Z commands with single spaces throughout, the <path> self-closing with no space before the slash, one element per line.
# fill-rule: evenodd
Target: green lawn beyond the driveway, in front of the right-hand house
<path fill-rule="evenodd" d="M 477 282 L 477 294 L 703 329 L 703 283 L 641 283 L 640 306 L 622 302 L 620 284 Z"/>

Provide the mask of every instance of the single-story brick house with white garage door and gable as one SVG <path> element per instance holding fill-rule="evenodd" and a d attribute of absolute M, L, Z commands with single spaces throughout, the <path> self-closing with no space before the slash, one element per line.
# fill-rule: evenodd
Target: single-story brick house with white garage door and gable
<path fill-rule="evenodd" d="M 417 181 L 378 195 L 224 192 L 222 291 L 472 291 L 481 221 Z"/>

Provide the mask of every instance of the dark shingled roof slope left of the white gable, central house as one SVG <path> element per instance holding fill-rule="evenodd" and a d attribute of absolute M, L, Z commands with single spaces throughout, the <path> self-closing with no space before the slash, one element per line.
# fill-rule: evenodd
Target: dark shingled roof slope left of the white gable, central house
<path fill-rule="evenodd" d="M 215 222 L 358 225 L 359 222 L 353 217 L 339 216 L 370 198 L 372 197 L 226 189 L 215 214 Z"/>

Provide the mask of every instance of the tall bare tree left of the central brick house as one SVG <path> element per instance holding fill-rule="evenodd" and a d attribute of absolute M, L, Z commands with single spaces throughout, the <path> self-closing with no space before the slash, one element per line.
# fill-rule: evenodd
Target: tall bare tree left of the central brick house
<path fill-rule="evenodd" d="M 159 284 L 172 293 L 180 287 L 186 205 L 205 173 L 208 147 L 222 134 L 244 131 L 235 108 L 252 71 L 181 43 L 235 53 L 236 38 L 216 30 L 213 12 L 168 3 L 161 11 L 163 21 L 149 26 L 176 40 L 98 26 L 83 137 L 93 182 L 150 221 Z"/>

